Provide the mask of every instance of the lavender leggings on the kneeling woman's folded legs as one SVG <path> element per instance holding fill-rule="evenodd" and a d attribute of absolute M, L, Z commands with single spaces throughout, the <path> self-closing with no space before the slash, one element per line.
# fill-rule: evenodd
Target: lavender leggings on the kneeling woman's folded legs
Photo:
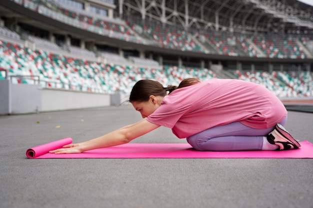
<path fill-rule="evenodd" d="M 287 116 L 279 122 L 286 123 Z M 267 129 L 253 129 L 240 122 L 216 126 L 190 137 L 187 142 L 199 151 L 244 151 L 262 150 L 263 136 L 267 136 L 274 126 Z"/>

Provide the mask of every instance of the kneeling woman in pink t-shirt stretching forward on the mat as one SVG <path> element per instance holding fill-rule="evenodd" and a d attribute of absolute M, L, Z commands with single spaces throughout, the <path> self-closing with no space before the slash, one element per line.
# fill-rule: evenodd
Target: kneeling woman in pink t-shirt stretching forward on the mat
<path fill-rule="evenodd" d="M 168 94 L 166 92 L 169 92 Z M 235 79 L 199 81 L 189 78 L 178 87 L 140 80 L 129 102 L 142 120 L 111 133 L 50 153 L 81 153 L 130 142 L 159 126 L 199 151 L 297 149 L 299 143 L 282 127 L 287 111 L 261 85 Z"/>

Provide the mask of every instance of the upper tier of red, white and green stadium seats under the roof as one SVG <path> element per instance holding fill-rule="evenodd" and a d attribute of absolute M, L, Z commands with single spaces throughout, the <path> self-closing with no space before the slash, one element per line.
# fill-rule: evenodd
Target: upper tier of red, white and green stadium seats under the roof
<path fill-rule="evenodd" d="M 73 8 L 70 10 L 68 6 L 62 4 L 59 4 L 54 11 L 37 1 L 27 0 L 26 2 L 24 6 L 34 11 L 51 16 L 51 18 L 55 15 L 59 16 L 57 18 L 66 23 L 109 37 L 140 44 L 147 43 L 155 45 L 155 42 L 157 42 L 160 47 L 182 51 L 200 53 L 210 51 L 210 48 L 203 48 L 203 45 L 199 45 L 200 40 L 195 40 L 194 35 L 183 29 L 171 28 L 166 25 L 147 26 L 145 24 L 134 24 L 129 21 L 108 19 L 107 17 L 99 18 L 98 15 L 92 15 L 92 13 L 88 13 L 84 10 L 78 11 Z M 78 24 L 76 24 L 76 22 L 78 22 Z M 134 28 L 138 27 L 141 27 L 140 30 L 144 34 L 138 34 L 133 31 Z M 146 37 L 149 38 L 145 39 Z M 250 57 L 262 57 L 262 54 L 257 54 L 258 52 L 255 50 L 255 47 L 253 48 L 253 45 L 250 46 L 251 43 L 254 43 L 255 46 L 265 54 L 265 57 L 269 58 L 305 59 L 307 55 L 311 57 L 311 54 L 307 54 L 310 52 L 304 51 L 292 36 L 281 38 L 279 35 L 258 34 L 248 37 L 244 34 L 242 34 L 242 36 L 239 34 L 230 36 L 220 34 L 212 35 L 209 33 L 206 34 L 205 37 L 210 41 L 210 45 L 215 45 L 217 50 L 221 51 L 221 54 L 228 56 L 248 55 Z M 234 45 L 237 46 L 234 47 Z M 242 48 L 243 50 L 240 50 Z"/>

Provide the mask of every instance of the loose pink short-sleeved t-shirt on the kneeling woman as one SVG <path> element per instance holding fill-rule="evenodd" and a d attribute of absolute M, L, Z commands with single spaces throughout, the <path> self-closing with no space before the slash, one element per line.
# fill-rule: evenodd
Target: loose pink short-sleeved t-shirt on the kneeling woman
<path fill-rule="evenodd" d="M 255 129 L 269 128 L 286 115 L 280 100 L 259 84 L 211 79 L 174 90 L 146 119 L 186 138 L 236 121 Z"/>

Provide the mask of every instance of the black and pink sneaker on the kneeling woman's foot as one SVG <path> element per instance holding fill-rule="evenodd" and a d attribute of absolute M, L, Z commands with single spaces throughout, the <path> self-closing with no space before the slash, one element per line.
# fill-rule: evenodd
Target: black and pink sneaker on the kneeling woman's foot
<path fill-rule="evenodd" d="M 272 145 L 278 145 L 279 150 L 298 149 L 301 147 L 280 124 L 276 124 L 275 129 L 267 135 L 267 141 Z"/>

